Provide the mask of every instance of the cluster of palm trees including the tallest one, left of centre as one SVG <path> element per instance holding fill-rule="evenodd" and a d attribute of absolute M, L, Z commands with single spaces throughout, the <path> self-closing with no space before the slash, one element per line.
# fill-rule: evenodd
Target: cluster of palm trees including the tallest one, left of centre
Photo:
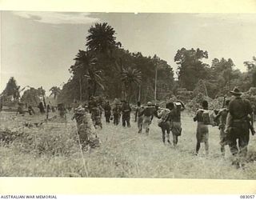
<path fill-rule="evenodd" d="M 124 67 L 118 64 L 122 58 L 115 58 L 113 52 L 122 44 L 116 42 L 115 30 L 106 22 L 96 23 L 88 32 L 86 50 L 78 50 L 74 58 L 75 63 L 70 66 L 73 78 L 79 82 L 79 100 L 82 101 L 82 87 L 86 86 L 88 97 L 95 96 L 97 90 L 104 91 L 106 83 L 104 74 L 108 73 L 108 70 L 116 70 L 115 66 L 118 66 L 118 77 L 123 84 L 123 98 L 129 101 L 134 87 L 138 87 L 142 81 L 140 70 L 135 66 Z M 110 67 L 106 67 L 107 61 Z"/>

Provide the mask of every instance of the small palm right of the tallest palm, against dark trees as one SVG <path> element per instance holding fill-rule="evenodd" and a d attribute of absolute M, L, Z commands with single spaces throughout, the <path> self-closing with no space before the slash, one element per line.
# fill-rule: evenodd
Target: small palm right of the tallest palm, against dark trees
<path fill-rule="evenodd" d="M 128 69 L 122 68 L 121 80 L 125 87 L 125 98 L 130 102 L 131 95 L 133 94 L 134 85 L 139 86 L 142 82 L 142 72 L 138 69 L 128 67 Z M 128 96 L 126 94 L 126 90 Z"/>

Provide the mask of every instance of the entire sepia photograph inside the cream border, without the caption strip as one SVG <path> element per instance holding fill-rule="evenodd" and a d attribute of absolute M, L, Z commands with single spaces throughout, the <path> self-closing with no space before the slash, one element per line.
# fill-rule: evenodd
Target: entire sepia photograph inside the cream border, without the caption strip
<path fill-rule="evenodd" d="M 256 14 L 1 11 L 0 177 L 256 179 Z"/>

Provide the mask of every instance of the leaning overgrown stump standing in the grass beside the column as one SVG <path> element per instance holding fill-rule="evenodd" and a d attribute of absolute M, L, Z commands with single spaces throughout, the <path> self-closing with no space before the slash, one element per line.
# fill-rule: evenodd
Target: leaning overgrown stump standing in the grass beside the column
<path fill-rule="evenodd" d="M 83 149 L 95 148 L 99 146 L 98 135 L 94 128 L 94 124 L 90 118 L 90 114 L 82 106 L 78 106 L 74 110 L 74 116 L 78 127 L 78 136 Z"/>

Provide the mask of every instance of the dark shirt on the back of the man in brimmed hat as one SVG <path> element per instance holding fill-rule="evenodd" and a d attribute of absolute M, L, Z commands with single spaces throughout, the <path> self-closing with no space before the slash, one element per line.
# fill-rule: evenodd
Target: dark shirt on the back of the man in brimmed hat
<path fill-rule="evenodd" d="M 241 97 L 231 100 L 229 110 L 233 119 L 242 119 L 253 112 L 250 102 Z"/>

